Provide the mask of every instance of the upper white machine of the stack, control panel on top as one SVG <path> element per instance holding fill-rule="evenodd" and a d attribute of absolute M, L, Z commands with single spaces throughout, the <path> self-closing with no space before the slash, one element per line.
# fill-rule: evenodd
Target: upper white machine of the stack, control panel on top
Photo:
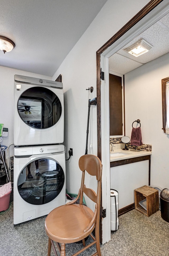
<path fill-rule="evenodd" d="M 63 143 L 63 84 L 20 75 L 14 79 L 14 145 Z"/>

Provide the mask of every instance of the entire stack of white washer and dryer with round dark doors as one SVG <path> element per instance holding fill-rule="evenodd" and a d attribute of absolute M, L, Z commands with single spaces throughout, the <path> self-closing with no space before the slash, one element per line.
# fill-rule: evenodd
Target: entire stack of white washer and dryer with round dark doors
<path fill-rule="evenodd" d="M 14 77 L 13 223 L 65 204 L 63 84 Z"/>

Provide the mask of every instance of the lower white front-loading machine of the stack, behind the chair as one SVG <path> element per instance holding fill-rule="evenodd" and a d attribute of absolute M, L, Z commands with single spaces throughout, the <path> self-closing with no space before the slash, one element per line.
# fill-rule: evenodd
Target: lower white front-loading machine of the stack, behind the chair
<path fill-rule="evenodd" d="M 15 147 L 13 167 L 14 224 L 65 204 L 64 145 Z"/>

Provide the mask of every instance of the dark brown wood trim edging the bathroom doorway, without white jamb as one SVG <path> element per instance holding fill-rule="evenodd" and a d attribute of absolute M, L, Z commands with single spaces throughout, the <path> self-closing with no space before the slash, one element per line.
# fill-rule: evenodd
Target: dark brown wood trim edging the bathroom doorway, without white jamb
<path fill-rule="evenodd" d="M 96 52 L 96 69 L 97 69 L 97 156 L 101 160 L 101 72 L 100 72 L 100 55 L 130 28 L 138 23 L 145 15 L 152 11 L 163 0 L 151 0 L 142 10 L 140 10 L 128 23 L 126 23 L 114 36 L 110 38 Z M 102 205 L 100 207 L 102 209 Z M 100 242 L 102 243 L 102 212 L 100 212 Z"/>

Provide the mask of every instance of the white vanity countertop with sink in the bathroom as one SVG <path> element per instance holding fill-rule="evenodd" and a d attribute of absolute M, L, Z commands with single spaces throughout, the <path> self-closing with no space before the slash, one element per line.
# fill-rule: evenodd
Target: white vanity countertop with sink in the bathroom
<path fill-rule="evenodd" d="M 123 154 L 123 155 L 120 155 Z M 150 151 L 137 151 L 137 150 L 114 150 L 110 152 L 110 162 L 129 159 L 133 157 L 140 157 L 140 156 L 148 156 L 151 155 L 152 152 Z M 115 156 L 112 156 L 115 155 Z"/>

